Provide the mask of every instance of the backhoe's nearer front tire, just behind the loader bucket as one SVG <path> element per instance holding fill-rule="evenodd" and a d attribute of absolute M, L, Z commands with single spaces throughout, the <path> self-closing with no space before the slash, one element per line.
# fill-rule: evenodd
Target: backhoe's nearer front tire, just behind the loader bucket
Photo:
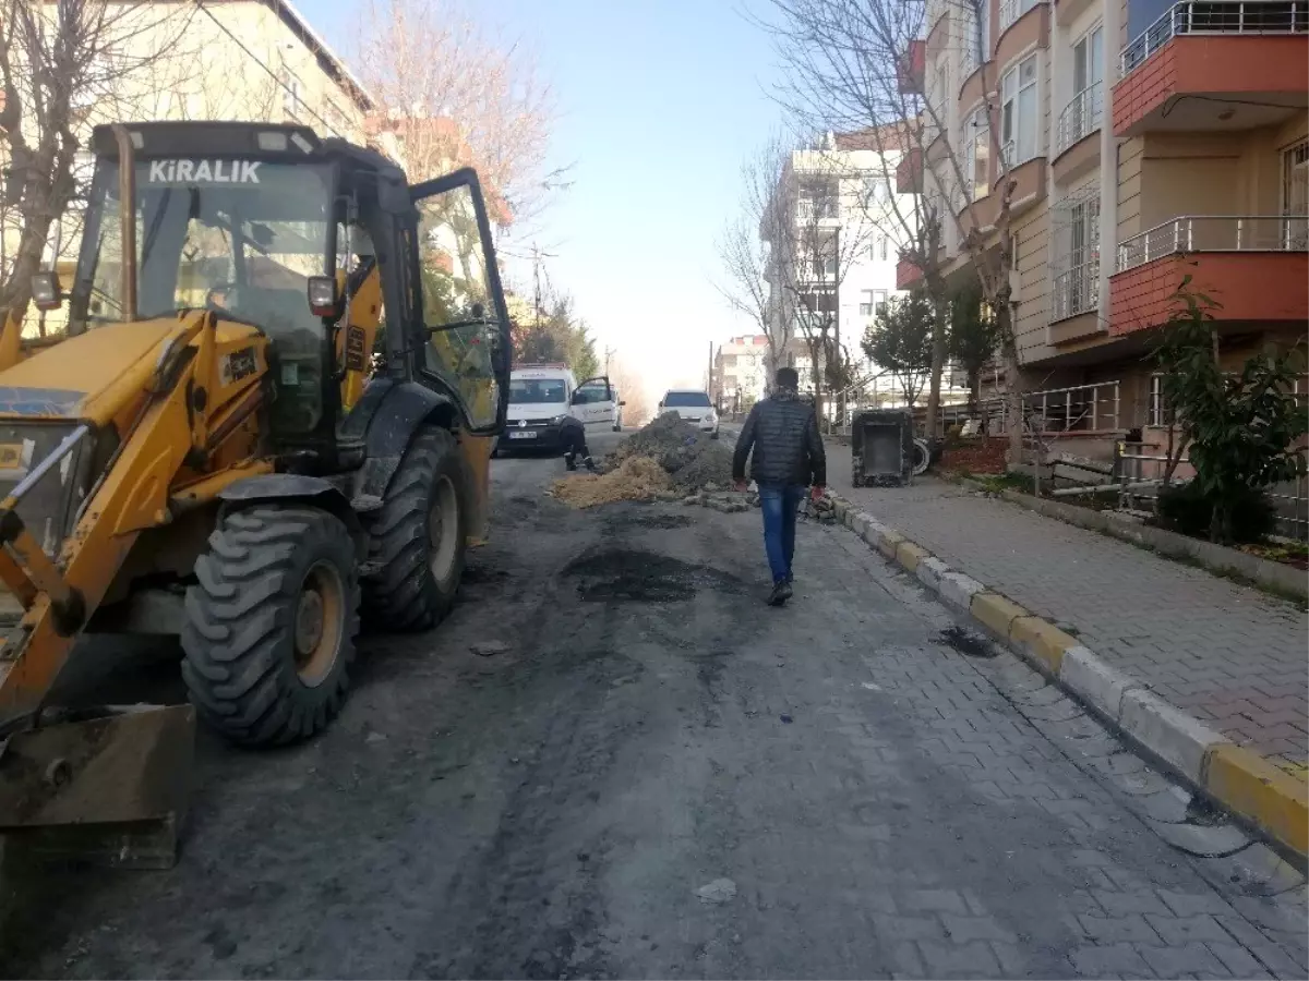
<path fill-rule="evenodd" d="M 225 515 L 186 593 L 182 678 L 234 743 L 293 743 L 340 710 L 359 633 L 357 556 L 339 518 L 260 504 Z"/>

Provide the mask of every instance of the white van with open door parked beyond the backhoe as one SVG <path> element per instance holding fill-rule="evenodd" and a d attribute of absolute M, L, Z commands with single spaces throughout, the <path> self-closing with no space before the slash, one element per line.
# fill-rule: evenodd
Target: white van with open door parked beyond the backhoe
<path fill-rule="evenodd" d="M 603 375 L 579 383 L 568 365 L 520 365 L 509 375 L 508 419 L 496 449 L 558 450 L 559 424 L 565 416 L 596 432 L 618 428 L 620 407 Z"/>

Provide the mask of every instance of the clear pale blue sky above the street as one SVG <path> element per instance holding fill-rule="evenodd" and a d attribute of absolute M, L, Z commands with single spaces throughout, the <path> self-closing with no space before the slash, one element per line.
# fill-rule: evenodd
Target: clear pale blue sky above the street
<path fill-rule="evenodd" d="M 297 0 L 348 51 L 351 0 Z M 715 239 L 741 161 L 780 120 L 768 38 L 738 0 L 480 0 L 488 26 L 534 47 L 560 120 L 551 156 L 571 190 L 543 220 L 551 281 L 651 395 L 699 386 L 708 344 L 750 330 L 728 311 Z M 529 251 L 511 234 L 505 247 Z"/>

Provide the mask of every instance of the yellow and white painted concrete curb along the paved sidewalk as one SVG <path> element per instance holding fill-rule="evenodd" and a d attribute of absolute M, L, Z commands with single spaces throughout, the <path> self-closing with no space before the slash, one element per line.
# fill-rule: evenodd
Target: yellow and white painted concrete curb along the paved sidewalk
<path fill-rule="evenodd" d="M 922 545 L 833 494 L 836 518 L 1169 770 L 1268 838 L 1309 859 L 1309 783 L 1152 695 L 1077 638 L 950 569 Z"/>

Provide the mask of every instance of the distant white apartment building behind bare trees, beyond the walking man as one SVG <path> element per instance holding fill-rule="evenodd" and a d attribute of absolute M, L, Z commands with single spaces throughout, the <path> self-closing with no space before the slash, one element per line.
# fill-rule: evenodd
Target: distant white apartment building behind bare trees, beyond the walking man
<path fill-rule="evenodd" d="M 874 370 L 860 340 L 885 303 L 903 294 L 897 264 L 914 232 L 912 191 L 897 181 L 901 139 L 895 127 L 829 133 L 787 161 L 761 237 L 770 245 L 774 335 L 787 340 L 783 364 L 802 374 L 812 374 L 805 322 L 825 318 L 829 343 L 848 354 L 856 375 Z"/>

